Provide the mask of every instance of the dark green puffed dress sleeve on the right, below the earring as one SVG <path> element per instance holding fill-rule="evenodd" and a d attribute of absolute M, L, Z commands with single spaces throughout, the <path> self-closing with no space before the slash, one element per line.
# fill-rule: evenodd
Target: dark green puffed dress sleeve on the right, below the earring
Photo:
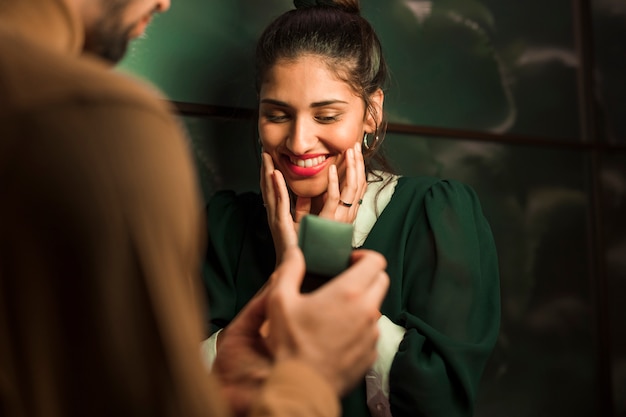
<path fill-rule="evenodd" d="M 396 321 L 407 332 L 390 372 L 392 413 L 469 416 L 500 325 L 494 240 L 467 185 L 437 181 L 413 201 Z"/>

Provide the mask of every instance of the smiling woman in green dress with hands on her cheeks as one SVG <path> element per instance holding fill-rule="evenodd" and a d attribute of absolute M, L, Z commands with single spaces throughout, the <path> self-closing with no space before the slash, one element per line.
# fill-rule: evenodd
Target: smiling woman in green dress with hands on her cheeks
<path fill-rule="evenodd" d="M 500 321 L 480 204 L 461 183 L 388 169 L 387 70 L 358 1 L 294 3 L 257 45 L 262 194 L 220 192 L 208 206 L 212 331 L 265 283 L 305 214 L 353 223 L 353 247 L 387 258 L 391 286 L 379 359 L 344 415 L 471 415 Z"/>

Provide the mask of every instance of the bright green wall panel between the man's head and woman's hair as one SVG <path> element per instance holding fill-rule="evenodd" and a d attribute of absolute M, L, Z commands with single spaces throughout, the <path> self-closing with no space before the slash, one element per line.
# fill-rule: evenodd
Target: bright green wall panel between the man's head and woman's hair
<path fill-rule="evenodd" d="M 135 41 L 119 69 L 157 85 L 169 98 L 252 108 L 254 43 L 290 2 L 172 1 Z"/>

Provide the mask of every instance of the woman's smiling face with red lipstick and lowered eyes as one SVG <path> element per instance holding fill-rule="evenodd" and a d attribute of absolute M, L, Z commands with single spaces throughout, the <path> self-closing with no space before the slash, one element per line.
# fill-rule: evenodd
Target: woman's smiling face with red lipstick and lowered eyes
<path fill-rule="evenodd" d="M 373 117 L 366 117 L 363 99 L 338 79 L 321 57 L 279 60 L 261 84 L 259 136 L 263 150 L 298 196 L 324 194 L 333 164 L 341 184 L 345 151 L 361 141 L 364 132 L 375 128 Z"/>

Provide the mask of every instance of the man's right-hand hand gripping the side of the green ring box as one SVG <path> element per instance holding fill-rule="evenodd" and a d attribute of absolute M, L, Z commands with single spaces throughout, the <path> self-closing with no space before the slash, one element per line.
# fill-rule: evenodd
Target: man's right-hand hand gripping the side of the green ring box
<path fill-rule="evenodd" d="M 376 360 L 377 320 L 389 287 L 382 255 L 355 251 L 352 263 L 318 290 L 301 294 L 304 258 L 291 246 L 270 278 L 266 301 L 267 343 L 275 360 L 308 363 L 340 396 Z"/>

